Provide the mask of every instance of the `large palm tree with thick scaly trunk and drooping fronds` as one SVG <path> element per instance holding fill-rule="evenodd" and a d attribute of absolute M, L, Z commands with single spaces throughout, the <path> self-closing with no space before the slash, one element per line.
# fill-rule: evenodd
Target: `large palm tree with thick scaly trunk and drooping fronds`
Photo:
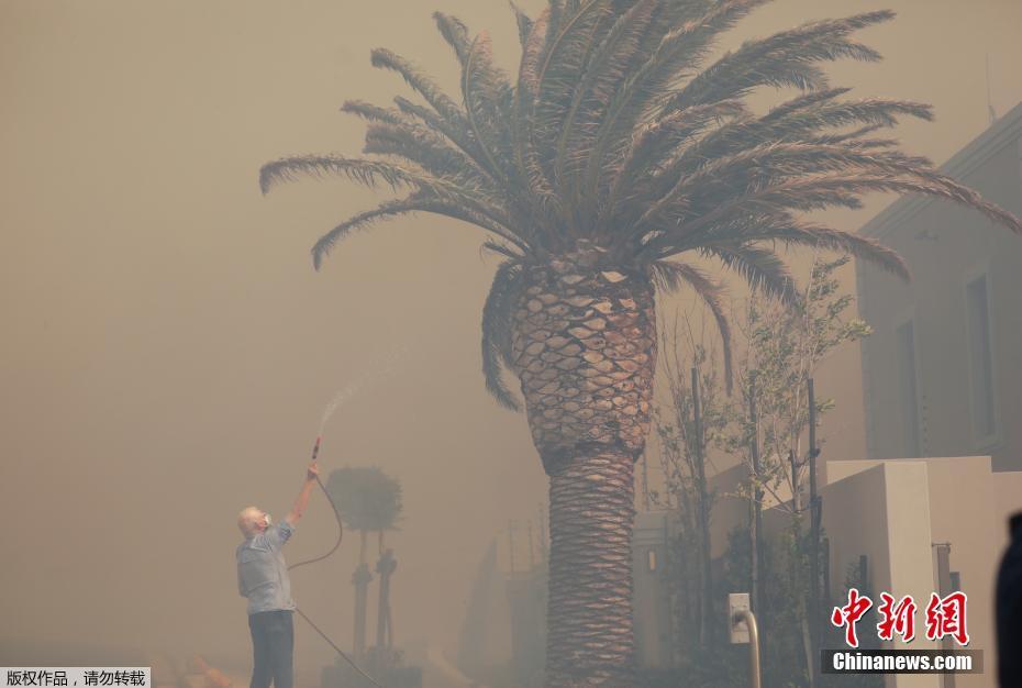
<path fill-rule="evenodd" d="M 547 685 L 632 685 L 633 462 L 649 430 L 656 359 L 654 292 L 691 288 L 724 341 L 712 258 L 786 300 L 782 245 L 848 252 L 908 276 L 879 243 L 810 222 L 804 211 L 857 208 L 869 191 L 943 197 L 1020 231 L 1011 214 L 873 136 L 927 106 L 848 99 L 820 64 L 879 55 L 852 34 L 892 18 L 871 12 L 751 41 L 707 64 L 716 38 L 767 0 L 548 0 L 514 13 L 518 74 L 489 36 L 436 24 L 460 64 L 460 102 L 408 59 L 373 51 L 419 100 L 349 101 L 368 122 L 365 154 L 265 165 L 264 192 L 301 175 L 342 175 L 408 193 L 323 235 L 313 263 L 376 221 L 430 212 L 478 225 L 502 262 L 482 311 L 482 368 L 502 404 L 521 381 L 533 441 L 549 476 Z M 759 87 L 801 95 L 753 112 Z"/>

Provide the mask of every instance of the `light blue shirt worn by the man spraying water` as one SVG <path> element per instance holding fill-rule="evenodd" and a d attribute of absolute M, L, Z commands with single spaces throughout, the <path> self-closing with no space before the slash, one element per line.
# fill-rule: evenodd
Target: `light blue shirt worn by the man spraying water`
<path fill-rule="evenodd" d="M 296 609 L 282 552 L 292 532 L 287 521 L 281 521 L 237 546 L 237 591 L 248 598 L 249 614 Z"/>

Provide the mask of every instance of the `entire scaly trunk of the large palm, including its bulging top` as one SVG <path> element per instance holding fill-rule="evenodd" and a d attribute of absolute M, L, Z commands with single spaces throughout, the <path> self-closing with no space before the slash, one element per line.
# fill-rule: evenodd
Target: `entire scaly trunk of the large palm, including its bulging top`
<path fill-rule="evenodd" d="M 580 242 L 581 244 L 581 242 Z M 511 355 L 551 478 L 548 688 L 631 688 L 635 459 L 649 432 L 653 286 L 592 246 L 526 266 Z"/>

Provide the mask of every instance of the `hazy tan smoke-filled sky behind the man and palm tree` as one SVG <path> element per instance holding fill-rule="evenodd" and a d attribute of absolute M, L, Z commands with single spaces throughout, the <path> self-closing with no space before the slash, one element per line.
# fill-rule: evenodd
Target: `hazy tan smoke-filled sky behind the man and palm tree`
<path fill-rule="evenodd" d="M 882 8 L 898 20 L 863 37 L 887 60 L 831 74 L 854 95 L 933 103 L 936 122 L 901 130 L 908 151 L 940 163 L 984 130 L 988 54 L 995 109 L 1022 99 L 1018 0 L 782 0 L 726 45 Z M 524 417 L 479 373 L 495 260 L 481 232 L 420 217 L 351 237 L 316 274 L 315 238 L 379 197 L 303 180 L 263 198 L 257 185 L 282 155 L 357 153 L 345 99 L 408 95 L 370 48 L 453 86 L 434 9 L 518 55 L 503 0 L 0 0 L 2 658 L 84 642 L 244 663 L 235 515 L 255 503 L 284 517 L 323 407 L 367 374 L 327 426 L 322 468 L 375 464 L 402 481 L 397 640 L 454 648 L 487 543 L 545 499 Z M 885 202 L 831 219 L 857 228 Z M 826 393 L 848 415 L 831 439 L 854 454 L 858 363 L 841 360 L 852 375 Z M 334 529 L 314 496 L 288 557 L 324 552 Z M 342 646 L 355 541 L 293 580 Z M 300 664 L 330 661 L 297 633 Z"/>

